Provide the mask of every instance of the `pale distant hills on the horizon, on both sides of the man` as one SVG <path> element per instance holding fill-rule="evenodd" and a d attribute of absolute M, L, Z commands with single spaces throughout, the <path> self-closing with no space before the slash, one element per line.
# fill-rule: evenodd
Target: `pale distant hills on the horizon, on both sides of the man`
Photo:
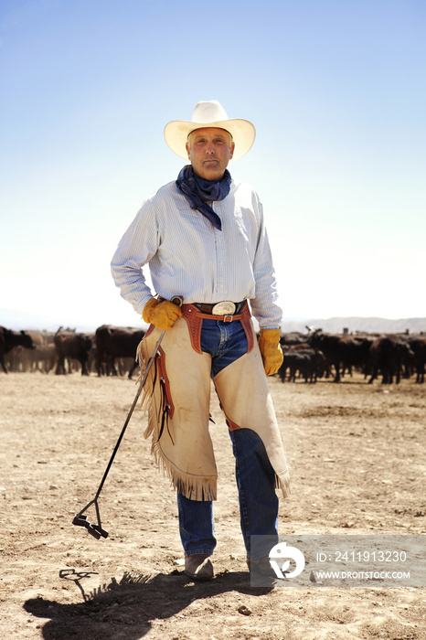
<path fill-rule="evenodd" d="M 63 319 L 45 317 L 37 314 L 29 314 L 22 311 L 14 311 L 12 309 L 0 309 L 0 325 L 6 326 L 8 329 L 19 331 L 21 329 L 46 329 L 47 331 L 57 331 L 60 325 L 65 323 Z M 256 324 L 257 325 L 257 324 Z M 94 331 L 98 325 L 92 325 L 88 322 L 73 322 L 66 324 L 72 326 L 78 331 Z M 407 330 L 410 334 L 426 333 L 426 318 L 401 318 L 399 320 L 388 320 L 386 318 L 364 318 L 364 317 L 333 317 L 328 319 L 312 319 L 284 318 L 282 321 L 282 333 L 291 333 L 297 331 L 306 334 L 306 326 L 314 326 L 317 329 L 323 329 L 331 334 L 342 334 L 347 328 L 349 333 L 378 333 L 392 334 L 405 333 Z"/>

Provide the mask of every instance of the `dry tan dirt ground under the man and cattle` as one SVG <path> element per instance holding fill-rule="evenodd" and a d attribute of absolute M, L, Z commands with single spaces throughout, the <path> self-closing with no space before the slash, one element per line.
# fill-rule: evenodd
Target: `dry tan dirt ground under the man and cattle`
<path fill-rule="evenodd" d="M 281 534 L 424 534 L 426 385 L 282 384 L 272 398 L 292 470 Z M 426 589 L 250 587 L 228 430 L 216 577 L 188 580 L 176 496 L 137 409 L 100 497 L 108 539 L 74 527 L 95 495 L 136 387 L 128 379 L 1 374 L 0 637 L 5 640 L 340 640 L 426 637 Z M 88 511 L 95 519 L 94 508 Z"/>

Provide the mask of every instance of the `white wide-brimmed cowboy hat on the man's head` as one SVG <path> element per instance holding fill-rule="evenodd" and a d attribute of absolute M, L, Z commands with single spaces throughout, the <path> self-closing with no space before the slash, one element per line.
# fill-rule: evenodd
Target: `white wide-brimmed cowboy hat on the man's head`
<path fill-rule="evenodd" d="M 192 114 L 191 122 L 172 120 L 165 125 L 165 142 L 170 149 L 184 160 L 187 160 L 187 136 L 196 129 L 215 127 L 228 131 L 235 143 L 232 160 L 240 160 L 250 151 L 254 143 L 256 129 L 248 120 L 229 120 L 227 112 L 217 100 L 200 101 Z"/>

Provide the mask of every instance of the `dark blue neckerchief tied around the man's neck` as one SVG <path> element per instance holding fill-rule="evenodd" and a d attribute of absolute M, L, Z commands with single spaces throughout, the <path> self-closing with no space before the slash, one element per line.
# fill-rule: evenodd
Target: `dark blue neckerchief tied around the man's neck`
<path fill-rule="evenodd" d="M 203 214 L 219 231 L 222 222 L 218 214 L 208 205 L 208 201 L 223 200 L 229 194 L 231 177 L 228 169 L 220 180 L 206 180 L 197 176 L 192 165 L 185 165 L 176 180 L 177 188 L 182 191 L 189 205 Z"/>

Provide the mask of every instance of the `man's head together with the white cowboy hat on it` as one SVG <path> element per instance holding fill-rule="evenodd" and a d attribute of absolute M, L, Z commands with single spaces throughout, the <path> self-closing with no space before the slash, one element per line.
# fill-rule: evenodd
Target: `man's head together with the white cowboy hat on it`
<path fill-rule="evenodd" d="M 198 140 L 196 146 L 195 137 L 199 132 L 206 133 L 208 131 L 215 133 L 211 134 L 212 137 L 208 134 L 210 140 L 205 142 Z M 222 138 L 225 137 L 223 143 L 219 143 L 218 133 Z M 254 143 L 255 136 L 256 130 L 248 120 L 229 120 L 224 108 L 216 100 L 198 102 L 189 122 L 174 120 L 165 125 L 165 142 L 170 149 L 179 157 L 184 158 L 184 160 L 189 157 L 195 172 L 199 176 L 204 177 L 199 173 L 200 170 L 203 173 L 208 171 L 209 175 L 212 176 L 208 177 L 208 179 L 211 180 L 218 179 L 213 176 L 214 174 L 217 176 L 220 174 L 219 177 L 223 176 L 230 160 L 239 160 L 243 155 L 246 155 Z M 208 153 L 211 156 L 217 154 L 220 157 L 217 157 L 216 160 L 211 160 L 209 164 L 203 162 L 201 167 L 200 158 L 202 154 L 199 151 L 199 144 L 206 144 L 204 152 L 207 155 Z"/>

